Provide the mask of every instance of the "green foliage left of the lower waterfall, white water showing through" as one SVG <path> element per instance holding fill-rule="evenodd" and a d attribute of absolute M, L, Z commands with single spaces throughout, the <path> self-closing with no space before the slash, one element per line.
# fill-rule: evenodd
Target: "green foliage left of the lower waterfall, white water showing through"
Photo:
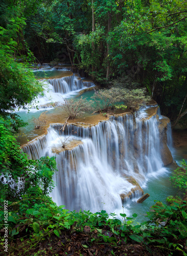
<path fill-rule="evenodd" d="M 48 195 L 54 187 L 55 158 L 28 160 L 11 133 L 11 122 L 0 116 L 1 205 L 4 200 Z M 33 202 L 30 201 L 32 204 Z"/>

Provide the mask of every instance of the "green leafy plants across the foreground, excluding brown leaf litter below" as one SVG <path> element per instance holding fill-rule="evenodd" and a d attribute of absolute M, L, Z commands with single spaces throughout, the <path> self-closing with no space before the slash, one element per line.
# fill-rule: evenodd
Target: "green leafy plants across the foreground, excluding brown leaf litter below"
<path fill-rule="evenodd" d="M 71 240 L 62 240 L 66 233 L 69 233 L 68 237 L 77 236 L 78 233 L 85 232 L 87 230 L 85 228 L 89 228 L 87 243 L 83 244 L 85 249 L 102 243 L 116 250 L 118 246 L 122 249 L 124 245 L 136 242 L 145 251 L 156 247 L 166 255 L 172 254 L 173 250 L 186 255 L 184 252 L 187 236 L 185 202 L 181 204 L 174 202 L 173 206 L 158 202 L 152 208 L 154 211 L 147 212 L 148 221 L 141 224 L 136 222 L 137 214 L 133 214 L 132 217 L 120 214 L 124 219 L 122 221 L 117 219 L 115 214 L 110 214 L 109 218 L 104 210 L 92 214 L 90 211 L 69 212 L 64 207 L 64 205 L 57 207 L 46 199 L 45 204 L 35 203 L 32 208 L 25 209 L 22 218 L 21 215 L 17 216 L 10 211 L 9 229 L 12 236 L 9 239 L 16 239 L 19 236 L 23 244 L 29 239 L 30 250 L 36 250 L 41 242 L 48 243 L 49 240 L 55 241 L 56 238 L 58 238 L 57 242 L 60 239 L 64 241 L 63 243 L 68 241 L 72 243 Z M 3 211 L 0 211 L 0 220 L 4 218 L 3 214 Z M 2 244 L 0 243 L 0 246 Z"/>

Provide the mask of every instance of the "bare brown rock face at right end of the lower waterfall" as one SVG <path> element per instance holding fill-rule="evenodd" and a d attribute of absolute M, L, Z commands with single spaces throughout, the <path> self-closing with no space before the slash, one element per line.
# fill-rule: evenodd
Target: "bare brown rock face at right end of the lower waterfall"
<path fill-rule="evenodd" d="M 161 140 L 161 157 L 164 165 L 168 165 L 172 163 L 173 157 L 171 155 L 171 151 L 168 148 L 167 145 L 167 127 L 170 122 L 170 119 L 167 117 L 164 117 L 163 119 L 159 119 L 159 137 Z"/>

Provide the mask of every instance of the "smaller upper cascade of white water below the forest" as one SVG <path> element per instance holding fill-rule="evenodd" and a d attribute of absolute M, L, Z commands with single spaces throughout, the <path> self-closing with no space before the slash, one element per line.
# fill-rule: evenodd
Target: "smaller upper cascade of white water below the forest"
<path fill-rule="evenodd" d="M 72 97 L 72 95 L 77 94 L 79 91 L 94 87 L 95 84 L 92 81 L 87 81 L 78 73 L 72 73 L 66 68 L 51 68 L 45 67 L 39 70 L 34 70 L 36 77 L 41 78 L 43 84 L 43 94 L 39 95 L 31 105 L 26 105 L 30 111 L 37 111 L 42 109 L 53 108 L 54 106 L 62 104 L 65 98 Z M 48 72 L 48 73 L 47 73 Z M 55 72 L 55 76 L 59 73 L 58 78 L 52 78 L 52 75 Z M 38 76 L 37 76 L 38 74 Z M 48 77 L 45 75 L 48 74 Z M 24 110 L 24 109 L 19 109 Z M 18 108 L 15 109 L 18 111 Z"/>

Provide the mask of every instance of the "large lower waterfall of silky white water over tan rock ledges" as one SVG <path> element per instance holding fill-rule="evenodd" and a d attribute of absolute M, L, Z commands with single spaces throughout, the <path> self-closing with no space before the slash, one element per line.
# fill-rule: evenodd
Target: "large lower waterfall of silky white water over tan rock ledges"
<path fill-rule="evenodd" d="M 172 162 L 170 120 L 157 106 L 126 113 L 97 125 L 51 124 L 46 135 L 23 146 L 29 158 L 56 156 L 58 172 L 52 198 L 69 210 L 122 212 L 137 200 L 150 176 Z M 126 210 L 127 212 L 128 210 Z"/>

